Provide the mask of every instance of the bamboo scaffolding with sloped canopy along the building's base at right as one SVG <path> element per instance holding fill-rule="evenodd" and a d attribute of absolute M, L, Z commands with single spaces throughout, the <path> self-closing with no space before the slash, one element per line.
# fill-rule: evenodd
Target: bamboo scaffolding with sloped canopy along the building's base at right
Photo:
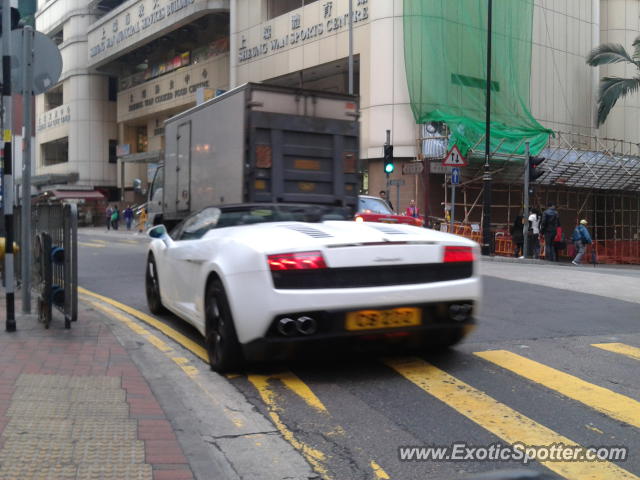
<path fill-rule="evenodd" d="M 423 152 L 439 151 L 433 145 L 427 147 L 425 144 L 429 142 L 444 142 L 442 137 L 424 135 L 420 140 Z M 526 159 L 522 155 L 500 152 L 500 148 L 498 146 L 491 157 L 495 220 L 492 229 L 496 235 L 496 253 L 511 255 L 513 245 L 508 232 L 523 209 Z M 555 132 L 539 155 L 546 158 L 541 166 L 545 173 L 536 182 L 531 207 L 542 211 L 555 203 L 568 239 L 577 222 L 587 219 L 600 262 L 640 264 L 640 144 Z M 471 148 L 468 157 L 469 166 L 463 169 L 463 181 L 458 186 L 460 194 L 456 198 L 456 211 L 464 212 L 464 216 L 456 222 L 455 231 L 479 240 L 483 139 Z M 447 204 L 446 174 L 441 186 Z M 571 253 L 571 249 L 565 251 L 565 255 Z"/>

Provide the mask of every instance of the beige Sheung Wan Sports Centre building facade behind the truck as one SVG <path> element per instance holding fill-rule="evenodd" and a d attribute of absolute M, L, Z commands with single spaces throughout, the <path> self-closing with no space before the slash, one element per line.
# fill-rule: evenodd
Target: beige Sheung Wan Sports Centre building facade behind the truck
<path fill-rule="evenodd" d="M 398 207 L 413 198 L 424 207 L 424 176 L 402 173 L 423 149 L 407 88 L 403 1 L 351 5 L 365 187 L 372 194 L 387 188 L 381 158 L 389 130 L 397 159 L 391 179 L 402 184 L 391 198 L 399 193 Z M 600 131 L 594 126 L 599 75 L 625 67 L 599 72 L 585 63 L 601 42 L 630 47 L 638 8 L 635 0 L 534 2 L 530 98 L 541 124 L 638 141 L 640 97 L 620 102 Z M 349 0 L 41 1 L 38 29 L 59 39 L 64 69 L 60 84 L 38 97 L 38 173 L 72 175 L 78 184 L 110 188 L 116 199 L 133 178 L 149 180 L 163 121 L 198 95 L 245 82 L 346 93 L 348 11 Z M 441 190 L 431 196 L 430 203 L 444 203 Z"/>

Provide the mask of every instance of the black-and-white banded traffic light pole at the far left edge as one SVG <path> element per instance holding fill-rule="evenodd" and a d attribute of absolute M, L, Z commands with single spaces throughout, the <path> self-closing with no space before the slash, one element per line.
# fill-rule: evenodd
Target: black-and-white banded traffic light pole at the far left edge
<path fill-rule="evenodd" d="M 11 138 L 13 136 L 11 109 L 11 2 L 2 1 L 2 150 L 4 223 L 6 230 L 4 271 L 6 293 L 6 329 L 7 332 L 16 331 L 15 292 L 13 272 L 13 177 L 11 161 Z M 24 253 L 25 255 L 27 252 Z"/>

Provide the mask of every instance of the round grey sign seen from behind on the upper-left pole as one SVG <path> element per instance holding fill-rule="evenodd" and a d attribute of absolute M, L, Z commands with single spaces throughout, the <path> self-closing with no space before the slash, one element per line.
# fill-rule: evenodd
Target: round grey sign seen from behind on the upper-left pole
<path fill-rule="evenodd" d="M 11 84 L 15 91 L 21 91 L 22 85 L 22 34 L 23 30 L 11 31 Z M 62 56 L 58 46 L 44 33 L 33 32 L 33 82 L 34 95 L 44 93 L 53 87 L 62 72 Z M 0 68 L 0 74 L 2 68 Z"/>

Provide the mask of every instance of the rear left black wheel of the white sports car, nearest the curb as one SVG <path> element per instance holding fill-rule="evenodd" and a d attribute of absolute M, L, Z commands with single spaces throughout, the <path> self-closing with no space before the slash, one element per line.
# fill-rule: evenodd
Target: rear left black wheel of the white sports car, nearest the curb
<path fill-rule="evenodd" d="M 205 345 L 211 370 L 223 373 L 242 367 L 244 359 L 231 308 L 220 280 L 209 282 L 205 297 Z"/>

